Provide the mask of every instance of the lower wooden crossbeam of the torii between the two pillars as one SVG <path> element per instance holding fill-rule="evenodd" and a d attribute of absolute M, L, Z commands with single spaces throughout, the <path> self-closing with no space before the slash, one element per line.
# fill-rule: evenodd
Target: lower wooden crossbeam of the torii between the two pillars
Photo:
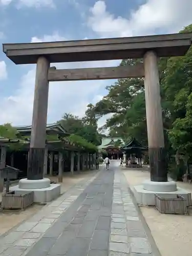
<path fill-rule="evenodd" d="M 144 77 L 143 63 L 134 66 L 120 66 L 110 68 L 90 69 L 53 69 L 49 70 L 49 81 L 77 81 L 77 80 L 99 80 L 99 79 L 121 79 Z"/>

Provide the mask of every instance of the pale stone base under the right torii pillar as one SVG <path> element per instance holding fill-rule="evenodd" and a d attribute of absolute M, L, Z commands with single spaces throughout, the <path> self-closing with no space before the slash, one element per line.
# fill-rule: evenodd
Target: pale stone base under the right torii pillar
<path fill-rule="evenodd" d="M 191 205 L 191 194 L 177 187 L 174 181 L 144 181 L 143 184 L 133 187 L 133 193 L 137 203 L 145 206 L 155 206 L 156 194 L 161 198 L 177 198 L 177 195 L 181 195 L 187 200 L 187 206 Z"/>

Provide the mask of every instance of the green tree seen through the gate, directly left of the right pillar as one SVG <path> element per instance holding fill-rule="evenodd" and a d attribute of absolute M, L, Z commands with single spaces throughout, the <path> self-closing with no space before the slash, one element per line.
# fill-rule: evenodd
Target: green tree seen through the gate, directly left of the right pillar
<path fill-rule="evenodd" d="M 135 65 L 142 59 L 124 59 L 122 65 Z M 108 95 L 95 106 L 97 116 L 112 113 L 103 126 L 112 137 L 130 136 L 146 142 L 146 118 L 143 78 L 119 79 L 106 88 Z"/>

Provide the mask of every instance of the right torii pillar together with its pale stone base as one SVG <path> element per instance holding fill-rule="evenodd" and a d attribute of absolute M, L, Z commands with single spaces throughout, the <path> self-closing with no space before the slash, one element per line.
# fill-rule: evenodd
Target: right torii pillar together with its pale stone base
<path fill-rule="evenodd" d="M 163 198 L 177 197 L 177 184 L 174 181 L 167 181 L 158 57 L 154 51 L 147 51 L 144 55 L 144 72 L 151 180 L 144 181 L 142 185 L 137 185 L 134 189 L 139 204 L 155 205 L 156 194 L 161 194 Z"/>

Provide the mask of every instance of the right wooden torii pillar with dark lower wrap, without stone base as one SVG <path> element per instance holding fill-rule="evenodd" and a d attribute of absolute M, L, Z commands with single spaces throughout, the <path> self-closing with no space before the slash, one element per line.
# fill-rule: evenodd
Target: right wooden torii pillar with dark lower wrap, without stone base
<path fill-rule="evenodd" d="M 167 181 L 158 58 L 154 51 L 144 55 L 145 104 L 151 181 Z"/>

